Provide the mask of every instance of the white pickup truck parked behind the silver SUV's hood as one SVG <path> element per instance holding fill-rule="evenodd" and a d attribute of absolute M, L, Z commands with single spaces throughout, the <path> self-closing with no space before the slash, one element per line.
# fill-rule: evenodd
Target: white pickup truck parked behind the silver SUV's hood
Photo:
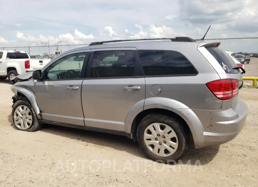
<path fill-rule="evenodd" d="M 17 75 L 34 71 L 44 67 L 51 59 L 33 59 L 25 51 L 0 51 L 0 80 L 9 79 L 14 84 L 13 78 Z"/>

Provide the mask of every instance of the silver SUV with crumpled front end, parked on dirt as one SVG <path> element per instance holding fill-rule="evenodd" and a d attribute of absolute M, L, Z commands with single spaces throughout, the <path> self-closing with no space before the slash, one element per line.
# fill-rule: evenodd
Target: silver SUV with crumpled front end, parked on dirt
<path fill-rule="evenodd" d="M 241 132 L 247 106 L 242 67 L 219 45 L 175 37 L 72 49 L 15 78 L 13 123 L 29 132 L 53 124 L 124 135 L 165 163 L 192 142 L 223 144 Z"/>

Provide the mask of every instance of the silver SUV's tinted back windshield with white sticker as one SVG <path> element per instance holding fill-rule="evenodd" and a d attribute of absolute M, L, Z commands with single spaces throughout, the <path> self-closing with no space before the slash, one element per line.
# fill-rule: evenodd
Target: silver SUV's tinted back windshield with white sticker
<path fill-rule="evenodd" d="M 218 61 L 226 73 L 239 73 L 238 69 L 233 69 L 236 67 L 236 63 L 225 51 L 219 47 L 206 47 L 206 49 Z"/>

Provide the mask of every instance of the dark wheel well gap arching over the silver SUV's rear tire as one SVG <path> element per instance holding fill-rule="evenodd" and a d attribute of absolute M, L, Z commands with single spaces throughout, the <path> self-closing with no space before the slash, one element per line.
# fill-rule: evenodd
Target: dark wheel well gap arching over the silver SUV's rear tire
<path fill-rule="evenodd" d="M 140 122 L 142 121 L 142 119 L 149 114 L 163 114 L 166 116 L 176 118 L 176 120 L 183 126 L 183 129 L 188 138 L 188 142 L 189 143 L 193 142 L 191 130 L 190 130 L 189 126 L 187 125 L 187 123 L 185 122 L 185 120 L 181 116 L 176 114 L 175 112 L 172 112 L 172 111 L 166 110 L 166 109 L 161 109 L 161 108 L 151 108 L 151 109 L 143 110 L 134 118 L 134 120 L 132 122 L 132 127 L 131 127 L 131 134 L 132 134 L 132 139 L 135 142 L 137 141 L 138 126 L 139 126 Z"/>

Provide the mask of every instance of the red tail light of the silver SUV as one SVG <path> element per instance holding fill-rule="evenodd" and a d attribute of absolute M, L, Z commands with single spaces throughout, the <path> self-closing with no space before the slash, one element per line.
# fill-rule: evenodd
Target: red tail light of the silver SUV
<path fill-rule="evenodd" d="M 208 89 L 220 100 L 228 100 L 238 95 L 238 80 L 220 79 L 206 83 Z"/>

